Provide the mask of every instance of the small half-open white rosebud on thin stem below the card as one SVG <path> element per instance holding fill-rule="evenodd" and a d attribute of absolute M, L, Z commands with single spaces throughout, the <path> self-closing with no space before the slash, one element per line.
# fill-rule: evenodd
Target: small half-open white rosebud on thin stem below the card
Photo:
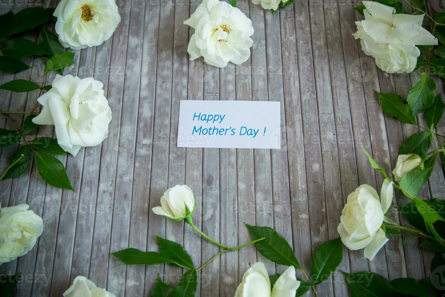
<path fill-rule="evenodd" d="M 152 208 L 155 214 L 166 216 L 170 220 L 182 220 L 186 216 L 186 205 L 190 213 L 195 210 L 193 191 L 186 185 L 171 187 L 162 195 L 161 205 Z"/>

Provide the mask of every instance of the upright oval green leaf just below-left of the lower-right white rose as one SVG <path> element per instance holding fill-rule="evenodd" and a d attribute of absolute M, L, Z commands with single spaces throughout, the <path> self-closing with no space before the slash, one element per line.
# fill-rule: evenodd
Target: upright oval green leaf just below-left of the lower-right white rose
<path fill-rule="evenodd" d="M 343 247 L 340 238 L 324 242 L 317 248 L 312 259 L 312 283 L 318 285 L 327 280 L 343 260 Z"/>

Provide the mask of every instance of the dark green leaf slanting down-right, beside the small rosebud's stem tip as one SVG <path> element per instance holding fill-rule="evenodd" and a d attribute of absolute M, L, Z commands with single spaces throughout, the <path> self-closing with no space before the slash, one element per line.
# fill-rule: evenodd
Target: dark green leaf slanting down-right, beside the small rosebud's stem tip
<path fill-rule="evenodd" d="M 291 246 L 279 235 L 274 229 L 269 227 L 258 227 L 245 224 L 252 240 L 257 240 L 266 237 L 265 240 L 261 240 L 255 243 L 255 248 L 266 259 L 271 260 L 277 264 L 294 266 L 296 269 L 301 270 L 301 266 L 292 251 Z"/>

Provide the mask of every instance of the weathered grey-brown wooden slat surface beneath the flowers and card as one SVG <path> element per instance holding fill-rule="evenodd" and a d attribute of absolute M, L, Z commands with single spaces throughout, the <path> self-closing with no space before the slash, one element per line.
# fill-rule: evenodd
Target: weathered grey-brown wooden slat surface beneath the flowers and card
<path fill-rule="evenodd" d="M 1 12 L 41 5 L 13 2 L 1 0 Z M 418 73 L 388 75 L 376 68 L 351 35 L 354 21 L 361 19 L 352 2 L 295 0 L 272 15 L 239 0 L 238 7 L 255 28 L 251 58 L 218 69 L 202 59 L 188 60 L 193 30 L 182 22 L 199 0 L 118 1 L 122 20 L 114 36 L 97 48 L 74 51 L 76 63 L 65 69 L 65 74 L 102 81 L 113 111 L 102 145 L 83 149 L 76 158 L 60 157 L 77 193 L 44 183 L 34 164 L 19 178 L 0 183 L 2 206 L 28 203 L 44 219 L 44 233 L 32 251 L 0 266 L 2 274 L 24 275 L 16 296 L 61 296 L 77 275 L 118 297 L 150 296 L 158 274 L 171 285 L 178 283 L 181 269 L 126 267 L 109 256 L 127 247 L 154 250 L 155 235 L 183 244 L 197 265 L 218 252 L 188 225 L 150 211 L 163 191 L 177 183 L 194 189 L 194 221 L 210 237 L 238 245 L 249 240 L 243 223 L 270 226 L 283 234 L 303 268 L 310 270 L 316 248 L 338 237 L 348 194 L 361 183 L 380 191 L 383 179 L 361 146 L 389 172 L 401 142 L 417 131 L 386 117 L 373 90 L 404 95 Z M 442 7 L 440 1 L 428 3 L 433 13 Z M 35 33 L 26 36 L 37 39 Z M 36 60 L 29 71 L 2 74 L 0 83 L 14 77 L 40 83 L 41 72 Z M 46 82 L 52 79 L 53 74 Z M 443 84 L 436 82 L 443 94 Z M 0 95 L 1 110 L 28 110 L 38 94 Z M 281 102 L 282 149 L 176 147 L 178 107 L 184 99 Z M 23 120 L 21 115 L 12 118 Z M 4 118 L 0 125 L 12 128 Z M 444 132 L 445 122 L 437 129 Z M 51 135 L 53 127 L 41 127 L 36 134 Z M 15 149 L 2 149 L 1 159 Z M 443 197 L 439 167 L 421 191 L 425 199 Z M 399 194 L 395 201 L 404 203 Z M 407 224 L 397 212 L 391 216 Z M 345 248 L 340 269 L 420 279 L 429 275 L 431 258 L 418 248 L 417 239 L 403 245 L 400 236 L 392 236 L 372 262 L 364 259 L 363 251 Z M 233 296 L 248 264 L 258 260 L 264 259 L 253 247 L 224 254 L 198 275 L 197 296 Z M 264 261 L 270 274 L 284 269 Z M 348 295 L 338 272 L 318 292 Z"/>

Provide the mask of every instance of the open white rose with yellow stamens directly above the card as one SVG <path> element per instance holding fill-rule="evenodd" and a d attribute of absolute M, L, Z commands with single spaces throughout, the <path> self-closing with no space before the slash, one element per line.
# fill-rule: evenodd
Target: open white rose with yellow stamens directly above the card
<path fill-rule="evenodd" d="M 252 22 L 227 2 L 203 0 L 184 24 L 195 29 L 187 48 L 190 60 L 202 56 L 207 64 L 226 67 L 250 57 Z"/>

